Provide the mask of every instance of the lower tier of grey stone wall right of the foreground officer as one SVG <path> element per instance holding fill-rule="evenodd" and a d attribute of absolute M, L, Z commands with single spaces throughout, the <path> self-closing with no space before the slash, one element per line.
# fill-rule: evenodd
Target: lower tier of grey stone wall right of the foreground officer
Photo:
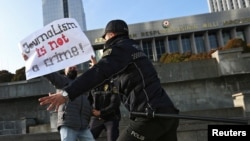
<path fill-rule="evenodd" d="M 232 95 L 248 91 L 249 74 L 165 83 L 163 87 L 183 112 L 233 107 Z"/>

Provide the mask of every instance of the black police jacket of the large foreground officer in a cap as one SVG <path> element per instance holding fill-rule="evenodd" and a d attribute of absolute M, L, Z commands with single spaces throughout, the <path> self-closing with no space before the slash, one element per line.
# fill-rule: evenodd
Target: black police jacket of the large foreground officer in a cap
<path fill-rule="evenodd" d="M 109 39 L 98 63 L 64 89 L 73 100 L 111 77 L 128 111 L 146 112 L 150 108 L 156 113 L 178 112 L 161 87 L 152 62 L 136 41 L 125 35 Z"/>

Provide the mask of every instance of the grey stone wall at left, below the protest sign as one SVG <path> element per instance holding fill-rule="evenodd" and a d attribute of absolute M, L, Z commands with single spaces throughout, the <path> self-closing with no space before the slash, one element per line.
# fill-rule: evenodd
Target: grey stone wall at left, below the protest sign
<path fill-rule="evenodd" d="M 0 135 L 28 133 L 26 126 L 49 124 L 50 112 L 38 98 L 55 92 L 44 78 L 0 84 Z"/>

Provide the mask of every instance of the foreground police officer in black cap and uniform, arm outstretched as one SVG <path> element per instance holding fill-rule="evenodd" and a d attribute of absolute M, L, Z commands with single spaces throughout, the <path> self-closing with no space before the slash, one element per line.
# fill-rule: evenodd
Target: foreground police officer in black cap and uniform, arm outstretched
<path fill-rule="evenodd" d="M 110 21 L 102 37 L 106 40 L 102 58 L 64 91 L 40 98 L 40 105 L 48 104 L 48 110 L 57 109 L 60 104 L 73 101 L 83 92 L 113 78 L 128 111 L 178 114 L 179 110 L 162 88 L 152 62 L 136 41 L 129 38 L 127 24 L 123 20 Z M 131 115 L 130 119 L 118 141 L 177 141 L 177 118 Z"/>

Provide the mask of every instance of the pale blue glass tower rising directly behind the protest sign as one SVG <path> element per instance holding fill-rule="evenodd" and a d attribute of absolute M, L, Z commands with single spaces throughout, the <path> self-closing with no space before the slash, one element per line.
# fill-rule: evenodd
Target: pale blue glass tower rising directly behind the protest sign
<path fill-rule="evenodd" d="M 43 24 L 61 18 L 74 18 L 86 31 L 86 20 L 82 0 L 42 0 Z M 79 70 L 88 69 L 88 63 L 78 65 Z"/>

